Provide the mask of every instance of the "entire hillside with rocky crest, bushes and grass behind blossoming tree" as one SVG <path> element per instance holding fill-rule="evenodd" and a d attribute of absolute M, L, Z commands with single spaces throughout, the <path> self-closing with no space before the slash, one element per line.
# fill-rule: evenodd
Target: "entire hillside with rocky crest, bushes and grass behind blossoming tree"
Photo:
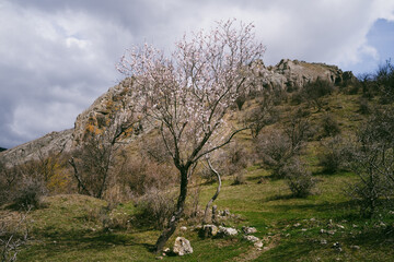
<path fill-rule="evenodd" d="M 1 153 L 23 163 L 0 169 L 0 240 L 14 239 L 1 246 L 5 253 L 16 250 L 20 261 L 392 261 L 392 85 L 289 60 L 260 64 L 254 74 L 254 90 L 225 116 L 229 126 L 250 129 L 210 156 L 222 187 L 208 223 L 236 235 L 200 229 L 218 187 L 201 160 L 165 246 L 183 236 L 194 252 L 153 252 L 179 187 L 158 128 L 127 126 L 119 147 L 88 140 L 127 119 L 132 80 L 126 79 L 82 112 L 74 129 Z M 245 226 L 256 229 L 255 238 Z"/>

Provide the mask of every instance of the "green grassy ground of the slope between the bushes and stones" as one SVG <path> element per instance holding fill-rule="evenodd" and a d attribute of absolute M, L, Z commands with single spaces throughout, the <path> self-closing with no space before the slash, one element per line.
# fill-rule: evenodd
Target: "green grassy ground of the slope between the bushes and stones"
<path fill-rule="evenodd" d="M 297 111 L 304 111 L 302 116 L 308 116 L 311 134 L 304 142 L 301 158 L 316 181 L 310 195 L 294 196 L 287 179 L 276 178 L 274 170 L 262 158 L 253 156 L 258 144 L 250 132 L 245 131 L 236 136 L 235 143 L 224 151 L 228 157 L 231 155 L 229 152 L 235 152 L 235 155 L 236 152 L 243 152 L 246 158 L 243 162 L 240 160 L 222 162 L 219 156 L 213 162 L 223 176 L 223 186 L 215 202 L 219 211 L 228 211 L 221 217 L 222 225 L 232 226 L 239 231 L 242 231 L 243 226 L 255 227 L 257 233 L 253 235 L 262 239 L 262 248 L 254 247 L 242 234 L 225 238 L 199 237 L 195 229 L 199 225 L 198 216 L 190 214 L 194 206 L 204 210 L 216 191 L 217 182 L 215 179 L 210 182 L 210 178 L 196 174 L 194 183 L 189 187 L 186 216 L 167 243 L 171 248 L 175 237 L 184 236 L 192 242 L 192 254 L 173 257 L 171 253 L 162 255 L 151 252 L 160 230 L 144 216 L 138 199 L 114 202 L 111 198 L 104 201 L 80 194 L 58 194 L 45 196 L 42 207 L 30 212 L 26 222 L 26 226 L 31 228 L 30 240 L 19 253 L 19 259 L 391 261 L 394 257 L 393 212 L 382 211 L 372 218 L 361 217 L 357 202 L 344 193 L 359 177 L 346 168 L 328 171 L 320 162 L 320 154 L 327 151 L 325 142 L 334 138 L 324 129 L 327 115 L 345 136 L 352 135 L 369 118 L 368 112 L 360 110 L 363 94 L 361 88 L 356 87 L 356 84 L 335 87 L 331 94 L 323 96 L 320 109 L 304 95 L 301 95 L 303 98 L 300 102 L 298 96 L 302 92 L 281 96 L 282 102 L 276 103 L 277 114 L 274 114 L 278 115 L 278 120 L 268 121 L 260 131 L 259 140 L 271 131 L 280 133 L 289 127 Z M 100 100 L 106 102 L 105 97 Z M 369 108 L 378 104 L 379 96 L 368 100 Z M 84 114 L 102 111 L 100 105 L 92 106 Z M 246 99 L 242 110 L 234 110 L 230 118 L 237 121 L 239 117 L 258 108 L 258 96 L 251 97 Z M 84 115 L 79 119 L 82 116 Z M 153 135 L 152 132 L 149 135 Z M 136 150 L 135 146 L 130 148 Z M 230 170 L 232 165 L 235 168 L 233 171 Z M 0 210 L 0 214 L 3 222 L 18 221 L 19 217 L 19 212 L 9 207 Z M 186 228 L 181 229 L 181 226 Z"/>

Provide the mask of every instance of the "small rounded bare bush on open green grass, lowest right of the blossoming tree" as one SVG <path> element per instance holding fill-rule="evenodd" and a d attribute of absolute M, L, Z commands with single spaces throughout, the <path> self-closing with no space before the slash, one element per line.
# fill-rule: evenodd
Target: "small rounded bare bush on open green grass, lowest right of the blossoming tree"
<path fill-rule="evenodd" d="M 294 196 L 304 198 L 311 194 L 315 180 L 300 159 L 292 159 L 281 168 L 281 172 Z"/>

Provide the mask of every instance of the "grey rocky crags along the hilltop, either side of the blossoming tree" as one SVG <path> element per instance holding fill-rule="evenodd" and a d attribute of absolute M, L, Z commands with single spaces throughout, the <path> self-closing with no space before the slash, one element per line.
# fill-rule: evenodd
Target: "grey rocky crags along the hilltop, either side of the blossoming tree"
<path fill-rule="evenodd" d="M 252 78 L 256 84 L 251 88 L 257 91 L 263 88 L 302 88 L 304 84 L 316 79 L 326 80 L 334 84 L 356 79 L 351 72 L 343 72 L 336 66 L 289 59 L 282 59 L 274 67 L 265 67 L 259 61 L 253 73 Z M 108 128 L 113 121 L 121 119 L 121 114 L 127 114 L 127 108 L 132 105 L 129 96 L 130 86 L 132 86 L 131 79 L 126 79 L 118 85 L 111 87 L 77 117 L 73 129 L 51 132 L 37 140 L 1 152 L 0 159 L 3 159 L 8 165 L 15 165 L 48 154 L 72 151 L 84 141 L 86 133 Z"/>

